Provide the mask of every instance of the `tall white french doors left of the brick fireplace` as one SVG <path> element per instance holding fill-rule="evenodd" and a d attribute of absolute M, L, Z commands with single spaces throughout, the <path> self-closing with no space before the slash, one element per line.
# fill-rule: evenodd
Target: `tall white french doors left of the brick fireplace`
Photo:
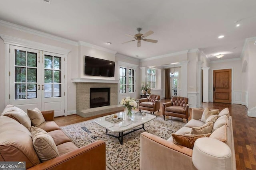
<path fill-rule="evenodd" d="M 64 55 L 10 46 L 10 104 L 64 115 Z"/>

